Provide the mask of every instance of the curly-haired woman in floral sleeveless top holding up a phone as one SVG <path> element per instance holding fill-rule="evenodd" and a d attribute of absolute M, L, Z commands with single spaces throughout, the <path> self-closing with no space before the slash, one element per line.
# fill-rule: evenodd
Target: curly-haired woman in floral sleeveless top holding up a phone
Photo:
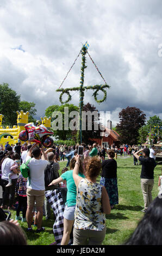
<path fill-rule="evenodd" d="M 90 157 L 86 163 L 86 178 L 78 175 L 79 155 L 73 169 L 73 179 L 77 187 L 73 245 L 101 245 L 105 233 L 105 214 L 110 214 L 109 196 L 104 186 L 96 182 L 101 172 L 101 161 Z"/>

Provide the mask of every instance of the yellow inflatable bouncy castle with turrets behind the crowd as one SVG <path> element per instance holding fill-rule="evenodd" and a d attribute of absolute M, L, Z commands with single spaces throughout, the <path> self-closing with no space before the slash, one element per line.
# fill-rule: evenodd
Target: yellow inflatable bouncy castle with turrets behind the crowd
<path fill-rule="evenodd" d="M 2 126 L 2 119 L 4 117 L 3 114 L 0 114 L 0 144 L 4 145 L 8 142 L 11 144 L 16 144 L 17 142 L 21 142 L 18 139 L 18 135 L 21 131 L 25 130 L 24 126 L 28 124 L 28 115 L 29 112 L 24 113 L 22 110 L 19 112 L 17 111 L 17 125 L 14 125 L 13 128 L 7 126 L 5 129 Z M 48 129 L 51 128 L 51 117 L 42 118 L 42 124 L 45 125 Z M 24 143 L 24 142 L 22 142 Z"/>

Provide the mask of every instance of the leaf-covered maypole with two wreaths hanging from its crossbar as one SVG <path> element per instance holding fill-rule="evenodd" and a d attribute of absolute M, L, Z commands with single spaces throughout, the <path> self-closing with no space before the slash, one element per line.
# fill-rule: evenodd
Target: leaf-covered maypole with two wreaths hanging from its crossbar
<path fill-rule="evenodd" d="M 70 92 L 72 91 L 79 91 L 79 95 L 80 95 L 80 98 L 79 98 L 79 113 L 80 113 L 80 121 L 79 121 L 79 125 L 80 125 L 80 139 L 78 137 L 78 142 L 82 143 L 82 109 L 83 109 L 83 105 L 84 105 L 84 92 L 87 91 L 87 90 L 94 90 L 95 92 L 92 94 L 92 96 L 94 96 L 94 99 L 97 103 L 101 103 L 103 101 L 105 101 L 107 99 L 107 91 L 105 90 L 105 88 L 110 88 L 110 86 L 105 82 L 101 72 L 99 71 L 99 69 L 97 68 L 94 60 L 92 60 L 90 54 L 88 53 L 88 47 L 89 47 L 89 44 L 88 42 L 86 41 L 86 43 L 83 45 L 82 49 L 80 50 L 77 58 L 74 60 L 74 63 L 72 64 L 70 70 L 67 72 L 67 75 L 68 73 L 71 71 L 73 65 L 76 63 L 76 60 L 78 59 L 78 57 L 80 56 L 80 53 L 82 54 L 82 66 L 80 68 L 81 70 L 81 75 L 80 75 L 80 86 L 79 87 L 71 87 L 71 88 L 61 88 L 61 86 L 63 85 L 66 77 L 64 78 L 63 82 L 60 84 L 60 87 L 59 89 L 56 90 L 56 92 L 61 92 L 60 94 L 60 97 L 59 97 L 59 100 L 62 104 L 64 103 L 67 103 L 69 101 L 71 101 L 72 99 L 72 96 L 70 94 Z M 104 84 L 94 84 L 92 86 L 83 86 L 84 84 L 84 70 L 87 68 L 86 66 L 86 53 L 88 53 L 88 56 L 90 57 L 90 59 L 92 60 L 92 63 L 95 65 L 95 68 L 97 69 L 99 75 L 102 77 L 103 81 L 104 81 Z M 103 96 L 103 99 L 101 100 L 98 100 L 97 99 L 97 96 L 98 96 L 98 92 L 101 91 L 103 92 L 104 96 Z M 63 95 L 66 94 L 67 95 L 67 100 L 63 101 Z"/>

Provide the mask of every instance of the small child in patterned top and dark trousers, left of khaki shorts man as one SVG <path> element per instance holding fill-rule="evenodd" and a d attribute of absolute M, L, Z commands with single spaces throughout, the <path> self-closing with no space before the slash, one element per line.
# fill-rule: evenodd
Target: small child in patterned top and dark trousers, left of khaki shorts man
<path fill-rule="evenodd" d="M 16 193 L 18 206 L 16 210 L 15 220 L 21 220 L 26 222 L 26 211 L 27 211 L 27 180 L 22 174 L 18 175 L 17 184 L 16 184 Z M 22 218 L 20 217 L 20 211 L 22 210 Z"/>

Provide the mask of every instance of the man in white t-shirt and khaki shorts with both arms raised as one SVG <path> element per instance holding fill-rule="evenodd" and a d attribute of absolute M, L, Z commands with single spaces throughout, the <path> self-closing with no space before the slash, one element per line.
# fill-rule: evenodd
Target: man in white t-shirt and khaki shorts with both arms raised
<path fill-rule="evenodd" d="M 27 182 L 27 223 L 28 229 L 27 231 L 32 231 L 32 221 L 33 215 L 32 210 L 34 207 L 34 203 L 36 202 L 36 210 L 37 214 L 37 232 L 45 230 L 45 228 L 41 227 L 42 217 L 43 217 L 43 201 L 45 198 L 45 179 L 44 179 L 44 170 L 48 164 L 46 154 L 53 149 L 49 148 L 45 152 L 43 147 L 40 149 L 36 147 L 36 143 L 32 145 L 29 149 L 26 157 L 26 162 L 32 157 L 28 163 L 30 168 L 30 184 L 29 179 Z"/>

